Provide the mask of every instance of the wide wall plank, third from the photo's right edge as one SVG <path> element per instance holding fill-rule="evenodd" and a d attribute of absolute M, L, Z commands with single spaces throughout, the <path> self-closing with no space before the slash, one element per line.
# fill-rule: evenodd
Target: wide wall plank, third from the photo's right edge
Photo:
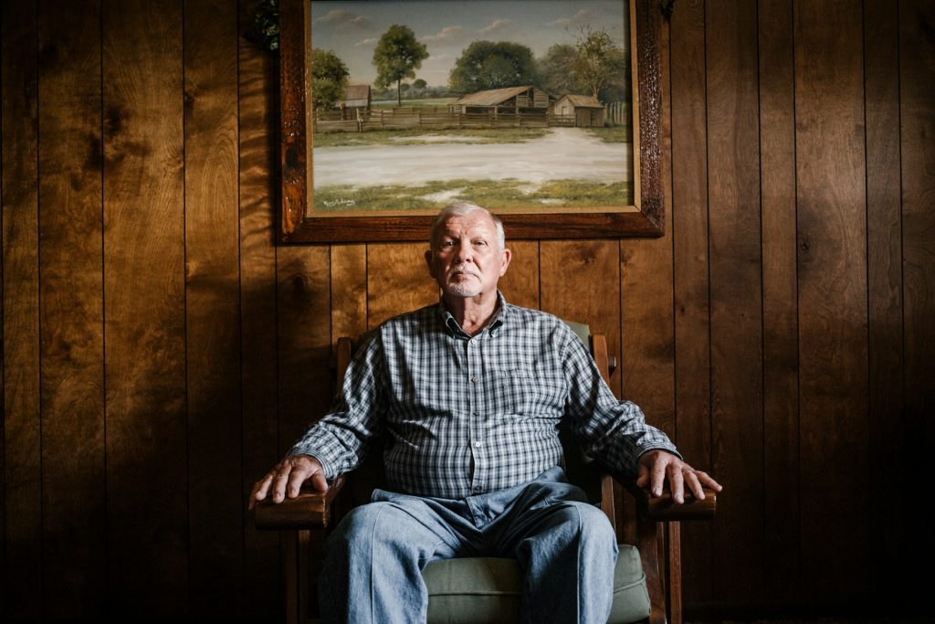
<path fill-rule="evenodd" d="M 870 589 L 861 3 L 797 2 L 802 596 Z"/>

